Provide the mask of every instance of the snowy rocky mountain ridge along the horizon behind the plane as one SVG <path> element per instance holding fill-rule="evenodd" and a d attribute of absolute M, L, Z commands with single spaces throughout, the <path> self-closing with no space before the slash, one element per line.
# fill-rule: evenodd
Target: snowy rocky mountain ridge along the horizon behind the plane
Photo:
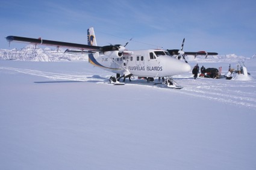
<path fill-rule="evenodd" d="M 19 60 L 19 61 L 88 61 L 88 55 L 86 53 L 64 53 L 66 49 L 50 49 L 46 47 L 45 49 L 36 47 L 34 45 L 28 45 L 22 49 L 0 49 L 0 59 L 8 60 Z M 246 58 L 245 56 L 237 56 L 235 54 L 228 55 L 217 55 L 208 56 L 186 56 L 187 61 L 190 62 L 238 62 L 246 59 L 256 58 L 253 55 L 251 58 Z"/>

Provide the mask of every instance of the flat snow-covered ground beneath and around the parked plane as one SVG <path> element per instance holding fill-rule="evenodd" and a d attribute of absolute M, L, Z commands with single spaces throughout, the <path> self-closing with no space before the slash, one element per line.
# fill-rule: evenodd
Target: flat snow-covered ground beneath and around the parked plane
<path fill-rule="evenodd" d="M 88 62 L 0 60 L 0 169 L 256 169 L 256 59 L 245 64 L 249 80 L 190 72 L 173 90 L 109 85 Z"/>

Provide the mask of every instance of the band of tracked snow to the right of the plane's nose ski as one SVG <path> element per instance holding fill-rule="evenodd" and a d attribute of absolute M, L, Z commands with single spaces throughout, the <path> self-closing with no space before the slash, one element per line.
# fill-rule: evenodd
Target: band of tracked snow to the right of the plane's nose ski
<path fill-rule="evenodd" d="M 187 79 L 181 83 L 184 88 L 180 93 L 256 109 L 256 91 L 246 91 L 246 88 L 255 89 L 252 81 L 199 78 L 197 80 Z"/>

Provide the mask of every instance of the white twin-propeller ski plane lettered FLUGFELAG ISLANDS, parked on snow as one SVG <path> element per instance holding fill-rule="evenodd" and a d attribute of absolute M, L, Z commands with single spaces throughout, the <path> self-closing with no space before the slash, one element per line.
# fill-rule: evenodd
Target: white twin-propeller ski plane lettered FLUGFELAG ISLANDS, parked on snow
<path fill-rule="evenodd" d="M 160 49 L 126 50 L 125 46 L 128 43 L 124 46 L 120 44 L 97 46 L 95 32 L 92 27 L 87 30 L 88 45 L 17 36 L 8 36 L 6 39 L 9 43 L 19 41 L 36 45 L 43 44 L 80 49 L 80 52 L 89 53 L 91 64 L 116 73 L 116 77 L 110 77 L 110 83 L 114 85 L 123 84 L 119 80 L 130 76 L 145 77 L 148 81 L 154 81 L 154 77 L 167 77 L 167 79 L 163 79 L 163 83 L 167 87 L 182 88 L 174 85 L 172 76 L 187 73 L 191 70 L 189 64 L 180 61 L 181 56 L 184 58 L 184 55 L 186 55 L 186 52 L 183 52 L 183 45 L 181 50 L 175 50 L 176 53 L 173 52 L 176 57 L 172 57 L 167 50 Z"/>

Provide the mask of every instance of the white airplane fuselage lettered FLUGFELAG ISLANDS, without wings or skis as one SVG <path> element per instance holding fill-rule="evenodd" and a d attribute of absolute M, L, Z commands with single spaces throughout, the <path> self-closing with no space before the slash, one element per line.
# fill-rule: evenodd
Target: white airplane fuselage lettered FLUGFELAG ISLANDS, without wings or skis
<path fill-rule="evenodd" d="M 187 73 L 191 70 L 189 64 L 172 58 L 166 50 L 133 50 L 133 54 L 125 52 L 120 58 L 110 58 L 99 55 L 89 55 L 89 62 L 105 70 L 117 74 L 128 72 L 134 76 L 166 77 Z"/>

